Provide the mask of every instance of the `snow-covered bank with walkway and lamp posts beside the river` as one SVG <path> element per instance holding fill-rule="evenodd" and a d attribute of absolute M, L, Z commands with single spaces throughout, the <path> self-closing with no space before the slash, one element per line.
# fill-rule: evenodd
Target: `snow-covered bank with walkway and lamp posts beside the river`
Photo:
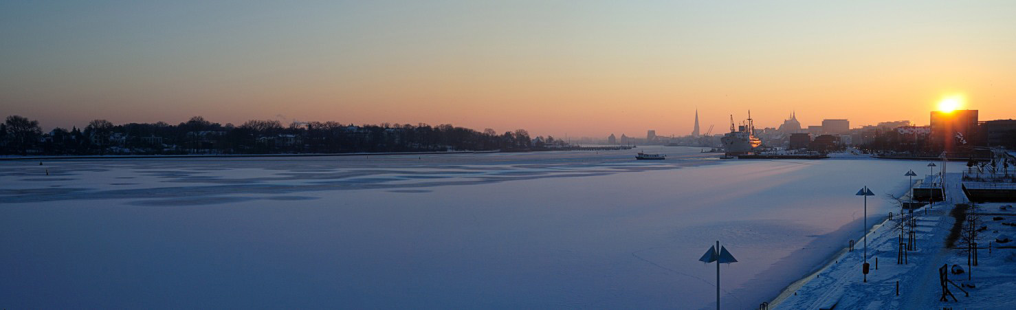
<path fill-rule="evenodd" d="M 966 267 L 966 255 L 955 249 L 944 247 L 945 238 L 955 222 L 949 215 L 953 203 L 968 202 L 959 189 L 960 174 L 947 174 L 948 196 L 954 201 L 949 203 L 936 202 L 933 206 L 925 206 L 914 210 L 916 215 L 917 241 L 914 251 L 907 252 L 904 264 L 896 263 L 897 242 L 899 230 L 891 225 L 878 225 L 868 234 L 868 262 L 872 270 L 867 283 L 861 272 L 864 262 L 864 252 L 841 252 L 835 259 L 820 270 L 809 274 L 786 289 L 773 303 L 774 309 L 815 309 L 835 304 L 836 308 L 844 309 L 1013 309 L 1016 300 L 1011 292 L 1016 288 L 1016 250 L 1013 248 L 995 248 L 988 251 L 982 248 L 978 252 L 980 264 L 972 270 Z M 1006 203 L 977 204 L 978 212 L 989 215 L 985 221 L 988 230 L 982 233 L 981 243 L 990 244 L 992 240 L 1004 232 L 1016 231 L 1012 226 L 1002 225 L 1005 220 L 1016 219 L 1016 211 L 1002 209 Z M 997 211 L 996 211 L 997 210 Z M 1003 221 L 991 221 L 997 215 Z M 997 247 L 998 245 L 992 245 Z M 987 253 L 986 253 L 987 252 Z M 879 268 L 875 269 L 876 258 L 880 259 Z M 958 265 L 973 275 L 973 282 L 967 282 L 967 273 L 949 274 L 949 278 L 957 286 L 973 283 L 975 288 L 964 288 L 969 293 L 953 286 L 950 291 L 956 301 L 949 298 L 940 301 L 942 289 L 939 282 L 939 267 Z M 953 269 L 953 268 L 950 268 Z M 897 294 L 896 286 L 899 285 Z"/>

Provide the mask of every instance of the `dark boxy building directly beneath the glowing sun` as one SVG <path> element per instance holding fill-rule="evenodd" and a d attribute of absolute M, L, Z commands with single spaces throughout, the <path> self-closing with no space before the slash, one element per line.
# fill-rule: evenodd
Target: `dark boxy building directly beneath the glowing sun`
<path fill-rule="evenodd" d="M 977 110 L 932 111 L 931 124 L 931 141 L 944 150 L 976 143 Z"/>

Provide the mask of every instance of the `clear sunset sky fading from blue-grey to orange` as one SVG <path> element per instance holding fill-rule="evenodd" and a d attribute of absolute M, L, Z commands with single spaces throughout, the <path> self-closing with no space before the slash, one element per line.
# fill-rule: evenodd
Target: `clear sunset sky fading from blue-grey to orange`
<path fill-rule="evenodd" d="M 1016 118 L 1016 1 L 0 2 L 0 117 L 533 135 Z"/>

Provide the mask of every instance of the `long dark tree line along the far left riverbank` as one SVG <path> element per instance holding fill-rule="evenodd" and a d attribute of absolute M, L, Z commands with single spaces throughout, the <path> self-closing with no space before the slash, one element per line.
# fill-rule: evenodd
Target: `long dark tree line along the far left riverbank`
<path fill-rule="evenodd" d="M 553 137 L 530 138 L 524 129 L 497 133 L 450 124 L 352 125 L 338 122 L 250 120 L 239 126 L 195 116 L 186 122 L 113 124 L 92 120 L 84 128 L 44 133 L 39 121 L 12 115 L 0 124 L 2 154 L 257 154 L 543 148 Z"/>

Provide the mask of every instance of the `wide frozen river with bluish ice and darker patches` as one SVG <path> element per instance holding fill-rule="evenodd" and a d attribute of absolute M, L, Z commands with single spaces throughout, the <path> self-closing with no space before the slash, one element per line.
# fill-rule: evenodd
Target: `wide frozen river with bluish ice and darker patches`
<path fill-rule="evenodd" d="M 0 162 L 0 308 L 757 308 L 929 173 L 646 151 Z"/>

